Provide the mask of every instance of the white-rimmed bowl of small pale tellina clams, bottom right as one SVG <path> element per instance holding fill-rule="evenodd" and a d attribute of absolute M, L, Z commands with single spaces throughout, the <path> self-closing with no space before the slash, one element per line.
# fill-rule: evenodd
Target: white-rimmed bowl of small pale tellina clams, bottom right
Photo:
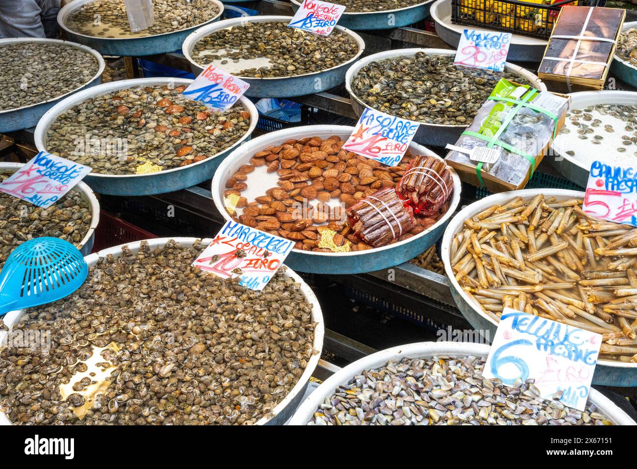
<path fill-rule="evenodd" d="M 488 345 L 452 342 L 376 352 L 330 376 L 303 401 L 290 425 L 635 424 L 595 389 L 580 412 L 559 399 L 533 401 L 540 394 L 533 380 L 502 386 L 485 379 L 488 354 Z"/>

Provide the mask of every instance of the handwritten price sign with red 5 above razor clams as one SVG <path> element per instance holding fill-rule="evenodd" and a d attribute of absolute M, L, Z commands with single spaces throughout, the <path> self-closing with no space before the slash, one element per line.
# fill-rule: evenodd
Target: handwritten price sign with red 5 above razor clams
<path fill-rule="evenodd" d="M 592 216 L 637 227 L 637 171 L 593 161 L 582 208 Z"/>

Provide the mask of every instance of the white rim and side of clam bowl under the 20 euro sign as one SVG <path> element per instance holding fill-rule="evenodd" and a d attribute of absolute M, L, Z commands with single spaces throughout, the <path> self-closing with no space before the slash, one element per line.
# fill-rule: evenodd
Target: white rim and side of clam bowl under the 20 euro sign
<path fill-rule="evenodd" d="M 391 57 L 404 57 L 404 56 L 413 56 L 416 52 L 424 52 L 427 55 L 434 56 L 455 56 L 455 50 L 449 49 L 423 49 L 423 48 L 411 48 L 411 49 L 397 49 L 397 50 L 386 50 L 385 52 L 378 52 L 378 54 L 372 54 L 371 56 L 367 56 L 364 59 L 359 60 L 357 63 L 352 65 L 349 70 L 347 70 L 347 74 L 345 75 L 345 88 L 347 92 L 350 94 L 350 101 L 352 103 L 352 108 L 354 108 L 354 112 L 356 115 L 361 115 L 364 108 L 369 108 L 366 103 L 364 103 L 352 90 L 352 84 L 354 83 L 354 78 L 357 73 L 371 62 L 378 62 L 383 59 L 389 59 Z M 542 91 L 546 91 L 547 87 L 545 84 L 537 77 L 537 75 L 533 75 L 530 71 L 519 67 L 517 65 L 513 65 L 511 63 L 505 64 L 505 70 L 510 73 L 516 73 L 520 75 L 520 77 L 524 78 L 531 84 L 531 86 L 540 89 Z M 421 145 L 431 145 L 433 147 L 442 147 L 444 148 L 447 144 L 454 144 L 461 133 L 465 131 L 469 126 L 468 125 L 444 125 L 444 124 L 426 124 L 419 123 L 420 126 L 416 131 L 415 137 L 413 140 Z"/>

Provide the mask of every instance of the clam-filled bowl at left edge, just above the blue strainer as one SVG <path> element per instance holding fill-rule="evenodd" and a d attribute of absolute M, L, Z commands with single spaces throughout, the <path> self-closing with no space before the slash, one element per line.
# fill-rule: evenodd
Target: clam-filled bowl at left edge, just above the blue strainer
<path fill-rule="evenodd" d="M 0 162 L 0 182 L 22 167 Z M 98 222 L 99 203 L 83 182 L 46 210 L 0 192 L 0 269 L 13 248 L 40 236 L 72 242 L 83 255 L 89 255 Z"/>

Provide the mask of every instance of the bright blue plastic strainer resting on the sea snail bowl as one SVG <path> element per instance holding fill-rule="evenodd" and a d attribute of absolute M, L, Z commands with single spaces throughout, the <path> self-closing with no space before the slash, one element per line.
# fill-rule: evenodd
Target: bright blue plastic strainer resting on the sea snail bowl
<path fill-rule="evenodd" d="M 68 241 L 29 239 L 11 251 L 0 272 L 0 317 L 64 298 L 80 288 L 89 265 Z"/>

